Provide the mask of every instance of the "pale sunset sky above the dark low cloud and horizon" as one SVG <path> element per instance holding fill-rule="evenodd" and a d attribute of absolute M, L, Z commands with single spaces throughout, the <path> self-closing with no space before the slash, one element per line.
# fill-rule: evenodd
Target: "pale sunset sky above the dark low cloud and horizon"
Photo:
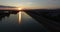
<path fill-rule="evenodd" d="M 55 9 L 60 8 L 60 0 L 0 0 L 0 5 L 27 9 Z"/>

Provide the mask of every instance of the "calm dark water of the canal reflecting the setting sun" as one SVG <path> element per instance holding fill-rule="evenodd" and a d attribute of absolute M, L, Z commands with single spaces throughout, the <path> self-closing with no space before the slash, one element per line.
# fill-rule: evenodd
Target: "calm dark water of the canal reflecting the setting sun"
<path fill-rule="evenodd" d="M 25 12 L 0 16 L 0 32 L 47 32 L 42 24 Z"/>

